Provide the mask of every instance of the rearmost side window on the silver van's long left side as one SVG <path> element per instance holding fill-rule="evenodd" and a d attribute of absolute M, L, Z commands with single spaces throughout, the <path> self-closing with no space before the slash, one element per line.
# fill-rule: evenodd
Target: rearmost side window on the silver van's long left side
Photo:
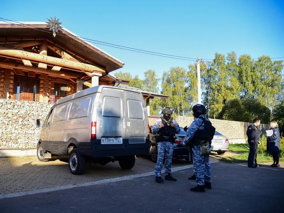
<path fill-rule="evenodd" d="M 88 117 L 91 97 L 72 102 L 68 119 Z"/>

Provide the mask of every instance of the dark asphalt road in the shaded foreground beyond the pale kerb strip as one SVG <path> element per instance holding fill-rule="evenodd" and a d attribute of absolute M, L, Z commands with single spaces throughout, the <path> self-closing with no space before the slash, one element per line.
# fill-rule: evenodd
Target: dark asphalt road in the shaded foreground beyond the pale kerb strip
<path fill-rule="evenodd" d="M 149 163 L 147 159 L 140 160 Z M 284 212 L 283 166 L 272 168 L 263 164 L 253 169 L 245 164 L 215 162 L 212 163 L 212 189 L 194 193 L 189 189 L 196 183 L 187 180 L 192 169 L 181 165 L 173 169 L 177 182 L 156 183 L 152 172 L 146 172 L 69 185 L 57 191 L 42 190 L 10 198 L 12 194 L 6 194 L 3 196 L 7 198 L 0 199 L 0 212 L 281 213 Z"/>

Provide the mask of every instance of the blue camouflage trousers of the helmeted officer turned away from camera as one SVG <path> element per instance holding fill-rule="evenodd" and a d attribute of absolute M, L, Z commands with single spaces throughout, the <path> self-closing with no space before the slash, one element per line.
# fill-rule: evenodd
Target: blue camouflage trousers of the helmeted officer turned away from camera
<path fill-rule="evenodd" d="M 195 171 L 194 171 L 195 167 Z M 193 147 L 193 171 L 196 175 L 195 182 L 198 185 L 204 185 L 204 181 L 211 183 L 211 165 L 208 155 L 200 155 L 200 145 Z"/>

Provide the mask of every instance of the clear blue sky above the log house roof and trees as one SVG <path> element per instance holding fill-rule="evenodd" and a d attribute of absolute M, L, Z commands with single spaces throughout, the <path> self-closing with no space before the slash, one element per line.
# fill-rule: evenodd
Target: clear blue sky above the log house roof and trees
<path fill-rule="evenodd" d="M 117 71 L 141 79 L 146 70 L 155 70 L 161 78 L 171 67 L 187 69 L 197 57 L 213 59 L 216 52 L 284 60 L 284 0 L 1 1 L 4 19 L 45 22 L 54 16 L 80 37 L 193 58 L 172 59 L 95 44 L 125 63 Z"/>

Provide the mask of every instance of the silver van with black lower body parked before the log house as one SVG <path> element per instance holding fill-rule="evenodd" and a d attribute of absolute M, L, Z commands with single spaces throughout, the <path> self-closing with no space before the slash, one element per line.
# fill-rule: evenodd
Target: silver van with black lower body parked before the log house
<path fill-rule="evenodd" d="M 37 127 L 40 127 L 37 120 Z M 118 161 L 131 169 L 135 155 L 147 154 L 149 123 L 142 94 L 99 85 L 56 101 L 42 124 L 37 157 L 69 156 L 72 174 L 83 173 L 85 161 L 105 165 Z"/>

